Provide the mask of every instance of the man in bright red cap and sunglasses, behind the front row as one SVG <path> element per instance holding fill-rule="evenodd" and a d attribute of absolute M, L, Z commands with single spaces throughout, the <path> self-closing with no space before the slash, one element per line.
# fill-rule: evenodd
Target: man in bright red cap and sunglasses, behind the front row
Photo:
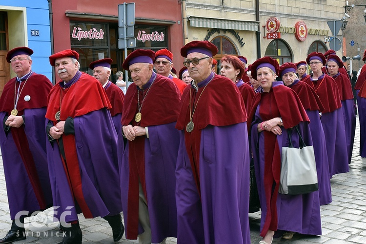
<path fill-rule="evenodd" d="M 154 67 L 156 73 L 171 79 L 183 93 L 184 88 L 187 86 L 184 81 L 173 77 L 170 71 L 173 69 L 173 54 L 166 48 L 161 49 L 155 53 Z"/>

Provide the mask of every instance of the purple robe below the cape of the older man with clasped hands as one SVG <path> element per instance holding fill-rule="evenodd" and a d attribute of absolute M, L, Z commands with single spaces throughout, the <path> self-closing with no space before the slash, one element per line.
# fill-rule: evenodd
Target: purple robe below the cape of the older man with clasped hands
<path fill-rule="evenodd" d="M 145 137 L 145 183 L 152 243 L 161 243 L 166 237 L 177 237 L 177 210 L 175 202 L 175 167 L 179 146 L 179 131 L 175 122 L 148 126 L 149 139 Z M 119 134 L 119 163 L 124 220 L 128 214 L 129 141 L 123 149 Z M 128 224 L 125 223 L 127 230 Z M 139 226 L 139 234 L 143 233 Z"/>

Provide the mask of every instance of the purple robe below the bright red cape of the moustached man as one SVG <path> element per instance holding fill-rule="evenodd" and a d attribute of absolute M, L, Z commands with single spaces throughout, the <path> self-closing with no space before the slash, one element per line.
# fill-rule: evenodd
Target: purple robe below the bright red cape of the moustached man
<path fill-rule="evenodd" d="M 92 217 L 113 216 L 122 211 L 117 163 L 117 133 L 106 108 L 74 118 L 81 190 Z M 55 205 L 61 221 L 78 220 L 81 210 L 74 201 L 68 175 L 61 161 L 59 145 L 47 142 L 47 159 Z M 66 158 L 67 162 L 67 158 Z M 57 207 L 57 208 L 56 208 Z"/>

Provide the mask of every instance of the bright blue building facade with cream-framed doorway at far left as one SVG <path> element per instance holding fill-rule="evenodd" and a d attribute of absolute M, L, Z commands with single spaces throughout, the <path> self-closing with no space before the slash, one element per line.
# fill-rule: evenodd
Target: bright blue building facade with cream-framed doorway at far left
<path fill-rule="evenodd" d="M 6 54 L 18 46 L 31 48 L 33 71 L 52 80 L 49 16 L 47 0 L 0 0 L 0 94 L 5 83 L 16 76 Z"/>

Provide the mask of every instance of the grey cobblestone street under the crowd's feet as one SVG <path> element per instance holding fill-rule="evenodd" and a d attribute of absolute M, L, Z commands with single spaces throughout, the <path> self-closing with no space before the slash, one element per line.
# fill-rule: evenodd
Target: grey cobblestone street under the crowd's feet
<path fill-rule="evenodd" d="M 338 174 L 331 179 L 333 202 L 321 206 L 322 236 L 306 236 L 295 234 L 292 240 L 274 239 L 273 243 L 291 244 L 365 244 L 366 243 L 366 159 L 359 155 L 360 128 L 356 125 L 356 138 L 353 147 L 353 157 L 350 170 Z M 51 213 L 47 209 L 35 217 L 26 218 L 26 240 L 15 242 L 51 244 L 58 243 L 62 237 L 58 232 L 58 223 L 53 223 Z M 83 243 L 112 244 L 112 230 L 102 218 L 84 219 L 79 216 Z M 251 243 L 257 244 L 259 237 L 260 212 L 249 214 Z M 11 221 L 6 196 L 6 185 L 2 159 L 0 163 L 0 238 L 10 229 Z M 125 240 L 122 244 L 138 243 L 137 240 Z M 168 244 L 177 243 L 176 238 L 169 238 Z"/>

